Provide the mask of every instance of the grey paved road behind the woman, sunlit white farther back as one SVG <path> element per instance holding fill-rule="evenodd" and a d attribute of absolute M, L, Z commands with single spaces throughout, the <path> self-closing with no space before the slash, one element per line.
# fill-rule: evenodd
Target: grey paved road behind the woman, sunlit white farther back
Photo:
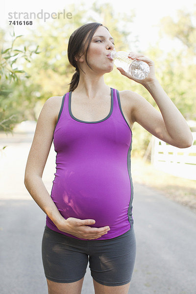
<path fill-rule="evenodd" d="M 0 154 L 0 294 L 47 294 L 41 241 L 45 214 L 24 186 L 32 141 L 17 135 L 3 139 Z M 55 152 L 43 174 L 50 191 Z M 134 183 L 133 216 L 136 263 L 129 294 L 196 294 L 196 214 L 160 193 Z M 94 294 L 90 270 L 82 294 Z"/>

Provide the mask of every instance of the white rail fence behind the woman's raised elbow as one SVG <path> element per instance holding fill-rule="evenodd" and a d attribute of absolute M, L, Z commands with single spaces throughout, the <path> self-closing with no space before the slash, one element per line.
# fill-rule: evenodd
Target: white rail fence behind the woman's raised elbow
<path fill-rule="evenodd" d="M 192 134 L 193 145 L 188 148 L 174 147 L 152 136 L 151 163 L 155 169 L 196 180 L 196 132 Z"/>

